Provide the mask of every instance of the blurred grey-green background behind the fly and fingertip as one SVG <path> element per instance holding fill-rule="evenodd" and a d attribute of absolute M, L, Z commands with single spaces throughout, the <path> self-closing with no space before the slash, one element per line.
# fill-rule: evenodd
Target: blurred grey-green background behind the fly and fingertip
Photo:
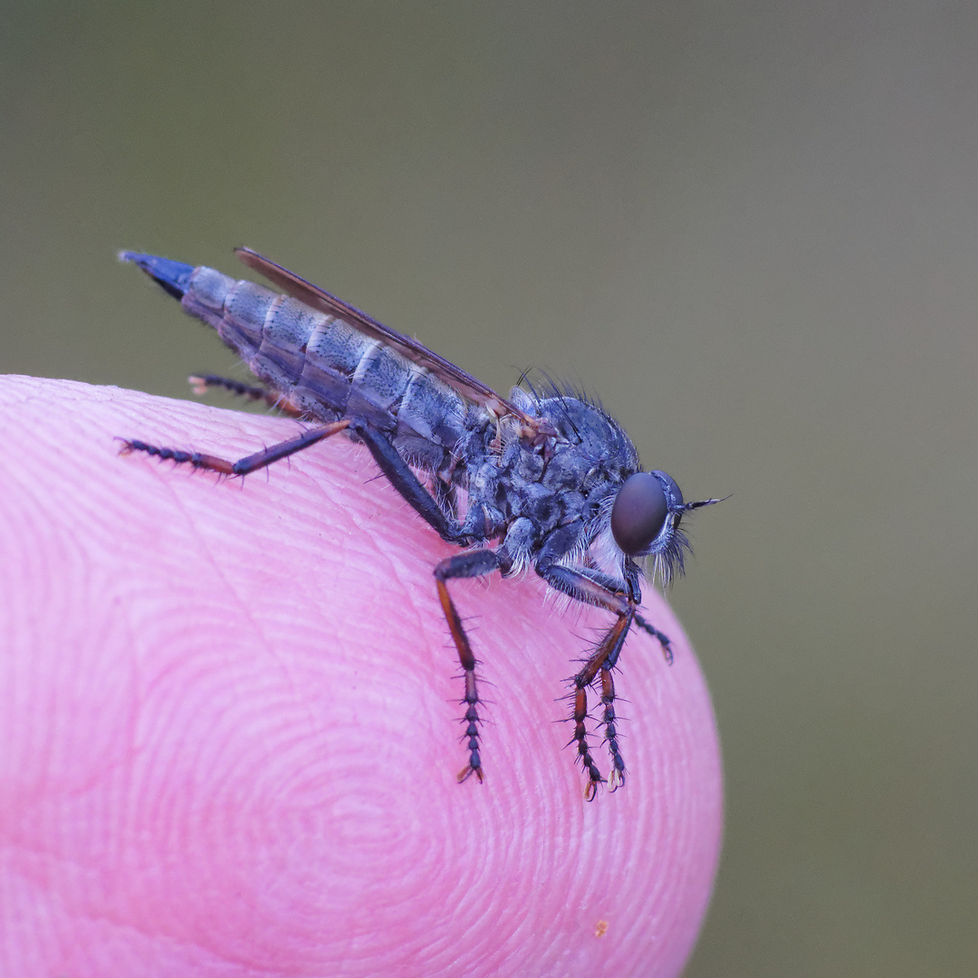
<path fill-rule="evenodd" d="M 733 493 L 673 592 L 728 789 L 689 976 L 978 972 L 978 7 L 3 19 L 0 370 L 244 378 L 114 252 L 250 244 L 501 390 L 584 381 Z"/>

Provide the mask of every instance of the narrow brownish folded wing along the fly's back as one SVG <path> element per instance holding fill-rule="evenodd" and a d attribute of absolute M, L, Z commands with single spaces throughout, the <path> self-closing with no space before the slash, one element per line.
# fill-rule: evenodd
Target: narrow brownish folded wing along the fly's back
<path fill-rule="evenodd" d="M 326 289 L 320 289 L 319 286 L 306 282 L 294 272 L 289 272 L 288 268 L 283 268 L 282 265 L 258 254 L 257 251 L 252 251 L 249 247 L 235 248 L 235 254 L 248 268 L 268 279 L 273 285 L 283 289 L 293 299 L 298 299 L 299 302 L 312 306 L 313 309 L 318 309 L 328 316 L 335 316 L 361 333 L 366 333 L 381 343 L 393 346 L 409 360 L 426 368 L 436 378 L 444 380 L 445 383 L 454 387 L 460 394 L 476 404 L 489 407 L 497 415 L 511 414 L 530 428 L 537 429 L 540 427 L 540 422 L 537 419 L 525 415 L 505 397 L 500 397 L 491 387 L 467 374 L 461 367 L 456 367 L 444 357 L 439 357 L 437 353 L 433 353 L 426 346 L 422 346 L 417 339 L 378 323 L 376 319 L 372 319 L 355 306 L 336 298 Z"/>

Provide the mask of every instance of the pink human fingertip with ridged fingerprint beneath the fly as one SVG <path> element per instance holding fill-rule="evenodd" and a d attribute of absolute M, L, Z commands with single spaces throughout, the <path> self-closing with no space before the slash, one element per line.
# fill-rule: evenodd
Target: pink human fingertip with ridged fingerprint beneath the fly
<path fill-rule="evenodd" d="M 678 622 L 616 674 L 625 786 L 584 800 L 558 697 L 611 616 L 455 552 L 342 435 L 111 387 L 0 380 L 0 973 L 669 976 L 720 849 L 719 746 Z M 592 710 L 596 697 L 590 697 Z M 607 752 L 592 737 L 605 773 Z"/>

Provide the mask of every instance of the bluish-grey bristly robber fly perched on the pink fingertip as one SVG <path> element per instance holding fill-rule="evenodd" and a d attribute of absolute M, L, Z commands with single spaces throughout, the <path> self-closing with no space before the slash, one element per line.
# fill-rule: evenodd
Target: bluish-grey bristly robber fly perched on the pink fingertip
<path fill-rule="evenodd" d="M 533 569 L 556 591 L 606 608 L 614 622 L 570 682 L 577 759 L 590 800 L 599 785 L 624 783 L 612 672 L 633 625 L 669 639 L 645 620 L 644 558 L 663 586 L 683 571 L 689 544 L 680 523 L 720 502 L 683 501 L 665 472 L 644 471 L 622 427 L 599 405 L 554 384 L 516 386 L 509 399 L 426 349 L 417 340 L 299 278 L 249 248 L 238 257 L 287 294 L 238 281 L 204 266 L 124 251 L 212 326 L 264 386 L 219 377 L 191 378 L 200 392 L 222 387 L 262 399 L 312 425 L 237 462 L 131 439 L 122 452 L 246 475 L 340 431 L 362 443 L 380 471 L 438 535 L 463 550 L 434 568 L 435 588 L 465 682 L 462 718 L 467 764 L 484 777 L 476 660 L 448 589 L 457 578 Z M 605 779 L 592 752 L 588 691 L 600 701 L 599 725 L 610 755 Z M 592 734 L 593 735 L 593 734 Z"/>

